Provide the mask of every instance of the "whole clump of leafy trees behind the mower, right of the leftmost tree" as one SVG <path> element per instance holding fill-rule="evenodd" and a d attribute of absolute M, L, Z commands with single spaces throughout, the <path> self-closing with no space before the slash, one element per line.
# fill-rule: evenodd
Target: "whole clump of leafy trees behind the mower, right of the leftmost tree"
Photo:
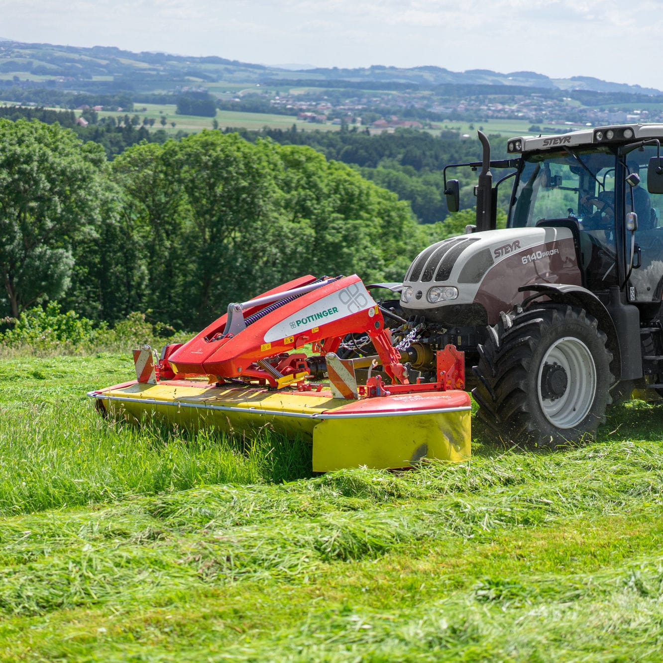
<path fill-rule="evenodd" d="M 431 241 L 406 202 L 308 147 L 205 130 L 132 147 L 112 170 L 145 307 L 182 328 L 301 274 L 398 280 Z"/>

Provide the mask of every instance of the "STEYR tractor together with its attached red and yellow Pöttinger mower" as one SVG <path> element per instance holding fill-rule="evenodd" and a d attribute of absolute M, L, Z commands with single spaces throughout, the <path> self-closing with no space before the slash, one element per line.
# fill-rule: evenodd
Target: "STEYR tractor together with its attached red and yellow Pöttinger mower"
<path fill-rule="evenodd" d="M 479 171 L 476 222 L 421 251 L 402 283 L 301 276 L 229 304 L 156 363 L 136 350 L 137 380 L 90 396 L 102 414 L 305 433 L 319 471 L 468 457 L 465 385 L 505 442 L 591 439 L 634 389 L 663 393 L 662 139 L 663 125 L 597 127 L 509 139 L 491 160 L 479 131 L 482 160 L 444 168 L 452 212 L 448 171 Z M 327 375 L 331 391 L 311 382 Z"/>

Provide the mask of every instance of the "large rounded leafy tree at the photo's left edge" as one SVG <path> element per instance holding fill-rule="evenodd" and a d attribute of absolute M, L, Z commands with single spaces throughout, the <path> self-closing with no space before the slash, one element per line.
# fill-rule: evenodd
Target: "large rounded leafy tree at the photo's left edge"
<path fill-rule="evenodd" d="M 0 283 L 13 317 L 68 288 L 72 241 L 99 222 L 104 166 L 103 148 L 69 129 L 0 119 Z"/>

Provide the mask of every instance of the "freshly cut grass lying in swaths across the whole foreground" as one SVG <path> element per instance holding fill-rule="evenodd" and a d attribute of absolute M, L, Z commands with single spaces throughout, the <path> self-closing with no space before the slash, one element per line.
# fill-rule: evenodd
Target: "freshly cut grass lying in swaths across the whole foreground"
<path fill-rule="evenodd" d="M 583 452 L 548 457 L 532 491 L 505 456 L 479 461 L 481 490 L 465 472 L 450 493 L 444 465 L 360 469 L 11 518 L 0 646 L 30 627 L 37 651 L 104 660 L 148 643 L 144 660 L 646 660 L 663 644 L 663 474 L 642 472 L 658 450 L 604 445 L 568 494 Z"/>

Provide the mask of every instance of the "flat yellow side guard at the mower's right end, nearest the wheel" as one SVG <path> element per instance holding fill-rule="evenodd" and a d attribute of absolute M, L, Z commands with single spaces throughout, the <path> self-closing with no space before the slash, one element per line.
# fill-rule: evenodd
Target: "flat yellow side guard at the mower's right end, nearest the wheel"
<path fill-rule="evenodd" d="M 410 467 L 422 458 L 467 460 L 470 412 L 326 419 L 313 431 L 313 470 Z"/>

